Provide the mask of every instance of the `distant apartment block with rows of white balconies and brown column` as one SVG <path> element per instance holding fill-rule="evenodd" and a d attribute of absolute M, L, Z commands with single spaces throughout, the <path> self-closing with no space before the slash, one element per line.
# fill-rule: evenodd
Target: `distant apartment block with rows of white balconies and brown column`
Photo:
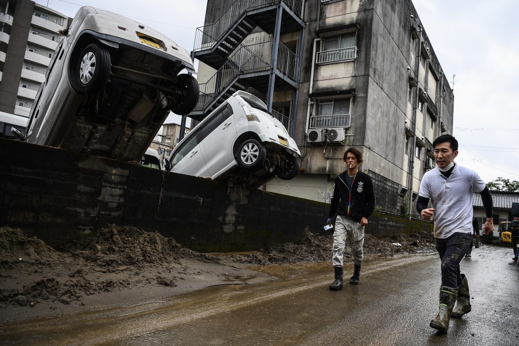
<path fill-rule="evenodd" d="M 0 0 L 0 112 L 29 117 L 68 20 L 30 0 Z"/>

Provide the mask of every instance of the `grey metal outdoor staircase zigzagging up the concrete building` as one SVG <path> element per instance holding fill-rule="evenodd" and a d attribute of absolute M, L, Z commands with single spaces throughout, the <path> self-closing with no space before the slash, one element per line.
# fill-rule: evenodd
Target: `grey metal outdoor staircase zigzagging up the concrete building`
<path fill-rule="evenodd" d="M 216 72 L 199 84 L 198 104 L 190 118 L 202 120 L 237 90 L 266 93 L 270 95 L 267 105 L 271 107 L 275 83 L 276 90 L 293 90 L 296 101 L 301 59 L 279 41 L 279 36 L 299 31 L 301 46 L 305 26 L 301 19 L 303 3 L 303 0 L 236 0 L 214 23 L 197 29 L 192 57 Z M 274 40 L 242 45 L 256 27 L 272 34 Z M 299 47 L 299 54 L 301 51 Z M 292 127 L 291 117 L 272 113 L 288 129 Z"/>

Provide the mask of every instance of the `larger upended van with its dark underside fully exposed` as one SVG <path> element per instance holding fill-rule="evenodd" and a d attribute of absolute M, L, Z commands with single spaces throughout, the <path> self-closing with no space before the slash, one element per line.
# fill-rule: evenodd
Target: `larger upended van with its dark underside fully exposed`
<path fill-rule="evenodd" d="M 31 108 L 25 139 L 139 161 L 170 110 L 198 100 L 187 51 L 150 27 L 81 7 L 58 44 Z"/>

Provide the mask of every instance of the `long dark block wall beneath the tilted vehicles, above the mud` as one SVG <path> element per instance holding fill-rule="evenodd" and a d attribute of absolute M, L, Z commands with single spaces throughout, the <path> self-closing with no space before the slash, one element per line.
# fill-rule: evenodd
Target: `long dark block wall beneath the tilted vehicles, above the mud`
<path fill-rule="evenodd" d="M 329 204 L 0 139 L 0 226 L 57 246 L 106 224 L 158 231 L 197 251 L 252 251 L 322 233 Z M 367 232 L 431 224 L 374 215 Z"/>

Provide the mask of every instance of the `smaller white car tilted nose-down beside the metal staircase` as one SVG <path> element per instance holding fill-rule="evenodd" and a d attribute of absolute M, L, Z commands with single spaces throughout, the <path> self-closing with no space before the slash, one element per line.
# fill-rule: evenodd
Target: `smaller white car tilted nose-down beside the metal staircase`
<path fill-rule="evenodd" d="M 260 186 L 292 179 L 301 156 L 283 124 L 256 96 L 237 91 L 173 149 L 166 170 Z"/>

